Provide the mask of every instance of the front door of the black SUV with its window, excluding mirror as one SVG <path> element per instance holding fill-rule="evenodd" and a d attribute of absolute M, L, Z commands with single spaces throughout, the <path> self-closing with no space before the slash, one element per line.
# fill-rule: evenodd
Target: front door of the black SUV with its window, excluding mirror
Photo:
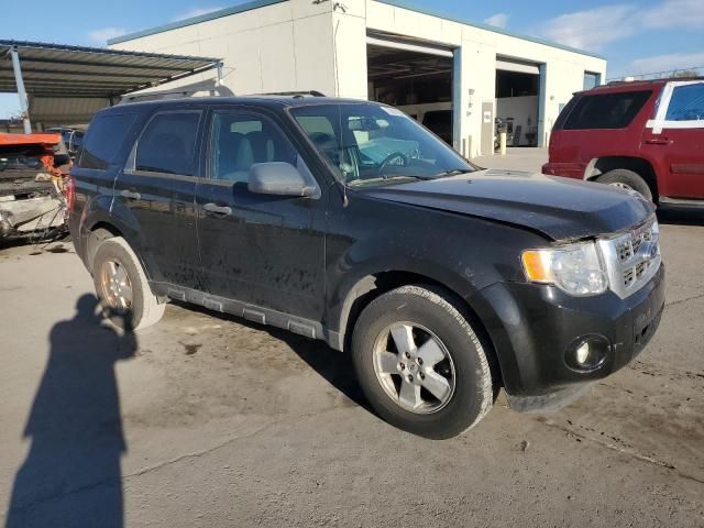
<path fill-rule="evenodd" d="M 320 321 L 324 200 L 261 195 L 248 188 L 255 163 L 286 162 L 311 180 L 312 175 L 266 116 L 213 110 L 208 128 L 210 179 L 199 182 L 196 189 L 207 292 Z"/>

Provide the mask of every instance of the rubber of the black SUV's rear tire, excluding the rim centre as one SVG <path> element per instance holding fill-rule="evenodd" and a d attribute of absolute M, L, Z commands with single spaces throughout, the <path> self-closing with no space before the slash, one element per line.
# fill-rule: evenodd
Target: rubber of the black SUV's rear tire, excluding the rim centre
<path fill-rule="evenodd" d="M 102 273 L 107 263 L 122 267 L 129 278 L 131 302 L 127 309 L 109 300 L 109 286 L 105 284 Z M 164 315 L 166 305 L 160 304 L 152 293 L 140 260 L 123 238 L 100 242 L 92 258 L 92 277 L 103 315 L 117 327 L 139 330 L 158 322 Z"/>

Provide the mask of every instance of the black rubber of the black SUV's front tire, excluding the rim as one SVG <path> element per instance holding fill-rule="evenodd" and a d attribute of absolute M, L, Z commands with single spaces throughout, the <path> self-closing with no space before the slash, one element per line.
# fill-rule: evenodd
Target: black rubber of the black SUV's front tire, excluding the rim
<path fill-rule="evenodd" d="M 388 424 L 431 439 L 448 439 L 471 429 L 490 411 L 494 403 L 494 387 L 486 352 L 475 331 L 449 299 L 451 297 L 440 288 L 422 285 L 403 286 L 373 300 L 360 315 L 352 336 L 354 369 L 372 407 Z M 384 343 L 384 336 L 389 327 L 398 323 L 418 324 L 429 330 L 451 358 L 455 373 L 452 376 L 454 389 L 444 406 L 436 411 L 418 414 L 403 408 L 398 402 L 400 396 L 394 399 L 389 395 L 391 389 L 384 387 L 376 374 L 375 350 L 382 350 L 378 343 Z M 389 339 L 394 341 L 391 348 L 396 350 L 395 339 Z M 420 350 L 421 342 L 416 344 Z M 387 346 L 385 344 L 384 350 L 388 350 Z M 403 360 L 403 354 L 398 358 Z M 414 367 L 427 369 L 428 365 Z M 400 363 L 398 369 L 402 372 Z M 394 384 L 400 395 L 398 387 L 404 383 L 402 376 L 394 374 L 386 380 L 398 381 Z M 388 386 L 387 382 L 386 387 Z M 428 392 L 425 394 L 433 397 Z"/>

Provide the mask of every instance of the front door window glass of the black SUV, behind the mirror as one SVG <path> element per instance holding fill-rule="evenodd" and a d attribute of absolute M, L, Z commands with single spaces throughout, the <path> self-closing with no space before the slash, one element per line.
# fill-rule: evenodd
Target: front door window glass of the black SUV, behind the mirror
<path fill-rule="evenodd" d="M 264 118 L 218 112 L 211 125 L 210 174 L 212 178 L 242 183 L 255 163 L 286 162 L 296 165 L 297 154 L 279 130 Z"/>

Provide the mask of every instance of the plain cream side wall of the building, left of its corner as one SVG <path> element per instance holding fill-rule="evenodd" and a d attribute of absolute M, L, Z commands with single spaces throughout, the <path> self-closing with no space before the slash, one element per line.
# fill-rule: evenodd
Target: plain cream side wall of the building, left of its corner
<path fill-rule="evenodd" d="M 336 94 L 330 2 L 289 0 L 133 38 L 111 48 L 218 57 L 234 94 Z M 348 32 L 345 26 L 342 32 Z M 200 79 L 212 78 L 202 74 Z M 194 78 L 182 84 L 191 84 Z M 178 84 L 167 85 L 179 86 Z"/>

